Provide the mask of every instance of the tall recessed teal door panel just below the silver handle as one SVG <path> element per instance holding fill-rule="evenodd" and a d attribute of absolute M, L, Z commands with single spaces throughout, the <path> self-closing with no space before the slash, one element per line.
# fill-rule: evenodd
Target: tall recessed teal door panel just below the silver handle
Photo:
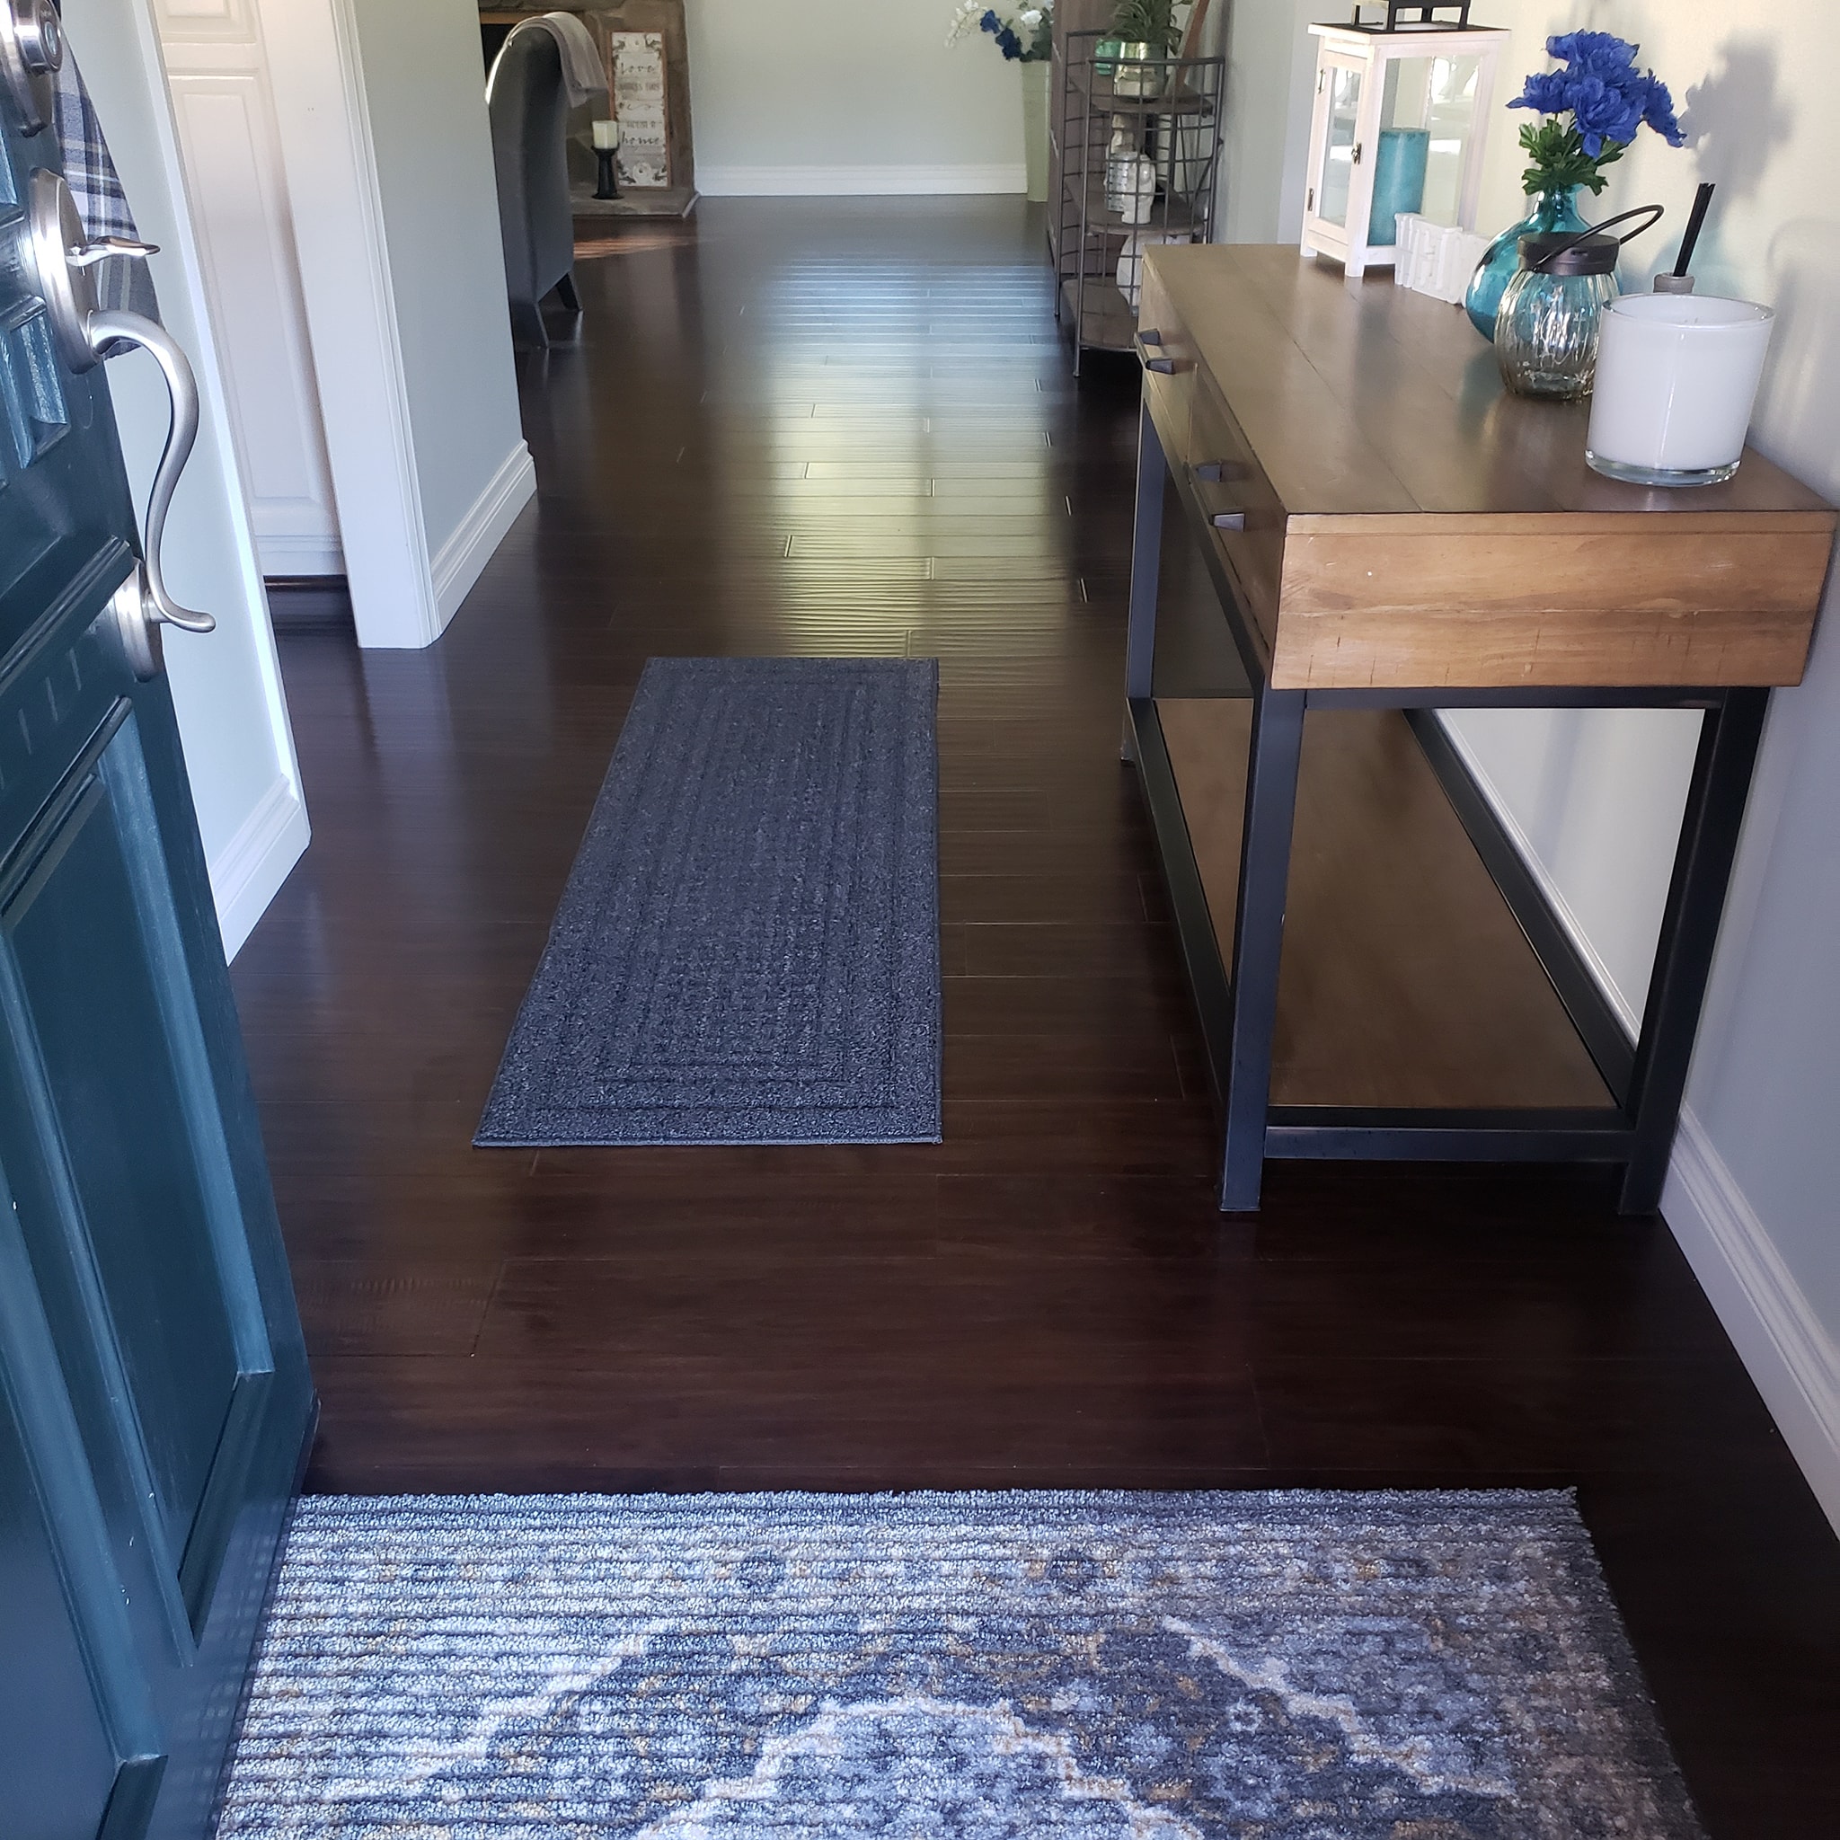
<path fill-rule="evenodd" d="M 75 1321 L 61 1343 L 74 1362 L 118 1363 L 134 1406 L 86 1435 L 138 1441 L 197 1625 L 228 1531 L 221 1498 L 236 1494 L 274 1360 L 197 1006 L 173 975 L 184 960 L 153 817 L 120 705 L 0 881 L 0 1006 L 29 1051 L 15 1073 L 26 1156 L 70 1172 L 35 1259 L 75 1270 L 40 1282 L 83 1295 L 103 1347 L 79 1354 Z"/>

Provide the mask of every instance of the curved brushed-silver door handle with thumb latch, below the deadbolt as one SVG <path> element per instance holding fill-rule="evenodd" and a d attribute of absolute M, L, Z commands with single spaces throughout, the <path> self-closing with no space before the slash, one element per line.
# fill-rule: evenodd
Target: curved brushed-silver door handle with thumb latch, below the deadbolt
<path fill-rule="evenodd" d="M 0 0 L 6 4 L 6 0 Z M 140 346 L 160 366 L 173 420 L 160 451 L 160 466 L 147 493 L 147 530 L 142 537 L 142 565 L 138 580 L 138 618 L 145 631 L 131 633 L 125 594 L 116 594 L 116 616 L 123 620 L 129 657 L 142 675 L 158 670 L 158 633 L 166 626 L 188 633 L 215 631 L 217 622 L 208 613 L 180 607 L 166 592 L 160 572 L 160 548 L 166 541 L 166 513 L 173 504 L 173 489 L 186 469 L 191 443 L 199 438 L 199 385 L 191 375 L 186 353 L 173 344 L 164 326 L 138 313 L 114 313 L 96 302 L 96 263 L 105 256 L 153 256 L 151 243 L 129 243 L 123 237 L 103 237 L 92 243 L 83 230 L 70 188 L 52 171 L 40 167 L 31 175 L 31 199 L 26 226 L 26 247 L 37 270 L 37 294 L 44 300 L 57 340 L 59 357 L 74 370 L 94 370 L 103 351 L 116 340 Z"/>

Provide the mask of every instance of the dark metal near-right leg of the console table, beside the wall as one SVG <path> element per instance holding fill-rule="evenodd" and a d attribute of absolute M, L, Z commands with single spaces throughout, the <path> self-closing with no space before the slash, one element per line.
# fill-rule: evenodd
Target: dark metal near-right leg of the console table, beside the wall
<path fill-rule="evenodd" d="M 1693 762 L 1662 940 L 1654 951 L 1654 975 L 1630 1073 L 1628 1111 L 1636 1144 L 1623 1174 L 1619 1205 L 1625 1214 L 1650 1214 L 1662 1205 L 1674 1124 L 1687 1091 L 1693 1036 L 1700 1025 L 1700 1003 L 1713 968 L 1713 946 L 1719 942 L 1768 707 L 1768 690 L 1726 690 L 1700 727 L 1700 751 Z"/>

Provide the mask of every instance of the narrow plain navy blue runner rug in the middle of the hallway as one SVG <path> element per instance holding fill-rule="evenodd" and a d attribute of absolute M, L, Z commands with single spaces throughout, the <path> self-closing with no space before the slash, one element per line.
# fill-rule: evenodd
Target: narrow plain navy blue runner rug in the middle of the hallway
<path fill-rule="evenodd" d="M 651 659 L 478 1144 L 938 1143 L 933 659 Z"/>

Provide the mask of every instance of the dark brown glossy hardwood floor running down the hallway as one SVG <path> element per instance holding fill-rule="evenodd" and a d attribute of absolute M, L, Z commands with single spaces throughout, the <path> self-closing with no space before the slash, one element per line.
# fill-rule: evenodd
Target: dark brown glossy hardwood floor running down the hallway
<path fill-rule="evenodd" d="M 309 1487 L 1577 1487 L 1711 1831 L 1840 1833 L 1840 1546 L 1660 1222 L 1374 1165 L 1214 1213 L 1117 758 L 1135 377 L 1073 385 L 1038 221 L 613 248 L 451 631 L 283 635 L 315 835 L 236 986 Z M 800 651 L 940 659 L 946 1141 L 473 1150 L 646 657 Z"/>

